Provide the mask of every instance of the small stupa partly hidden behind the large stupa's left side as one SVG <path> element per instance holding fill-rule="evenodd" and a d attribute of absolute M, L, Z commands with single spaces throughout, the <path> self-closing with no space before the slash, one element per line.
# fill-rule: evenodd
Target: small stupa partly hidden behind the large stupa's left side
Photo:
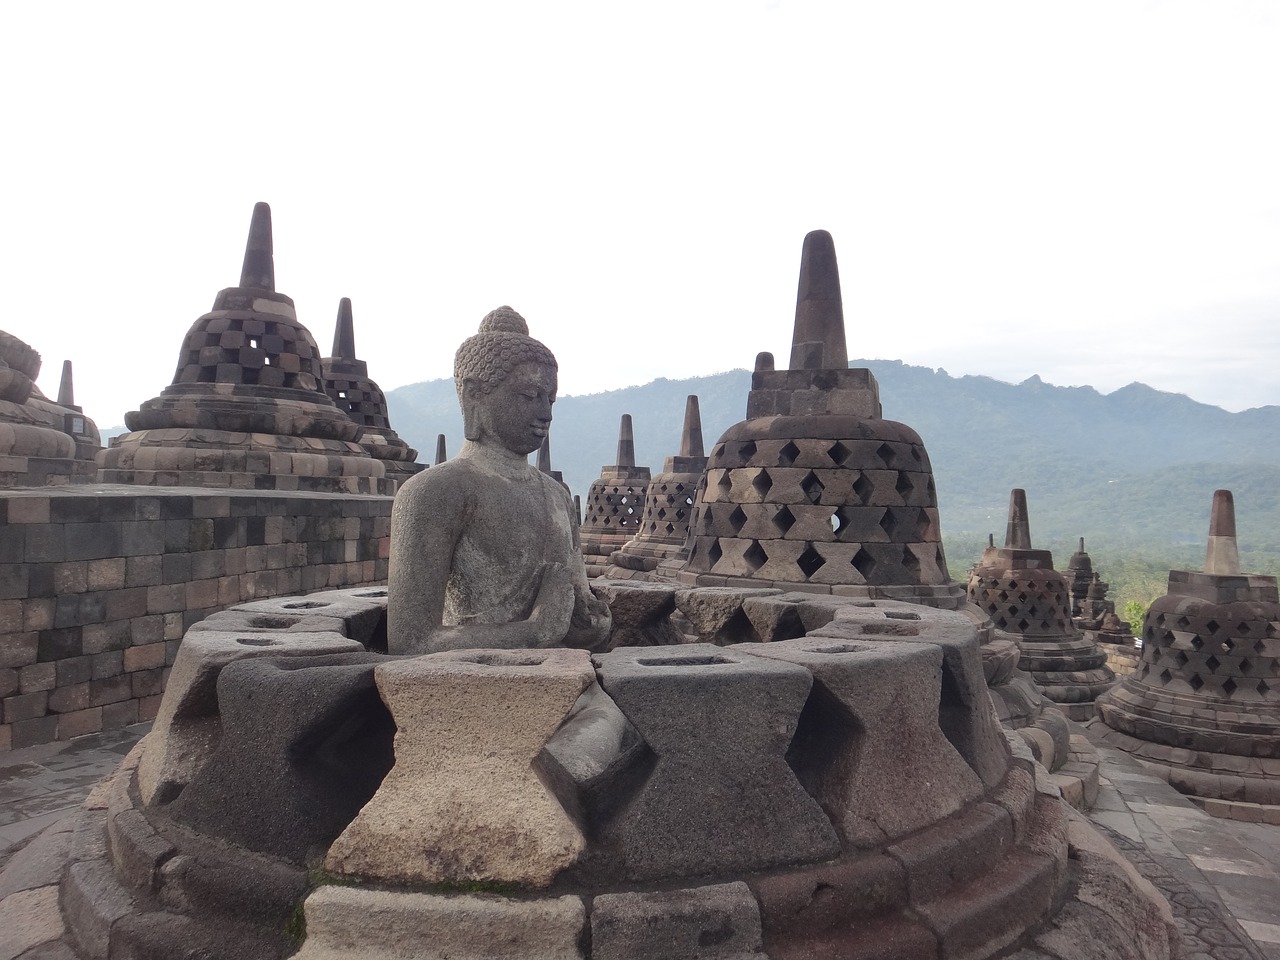
<path fill-rule="evenodd" d="M 662 561 L 677 557 L 689 536 L 694 494 L 707 470 L 703 454 L 703 421 L 698 397 L 685 399 L 685 426 L 680 453 L 667 457 L 662 472 L 649 481 L 640 530 L 609 558 L 605 576 L 630 580 L 653 571 Z"/>

